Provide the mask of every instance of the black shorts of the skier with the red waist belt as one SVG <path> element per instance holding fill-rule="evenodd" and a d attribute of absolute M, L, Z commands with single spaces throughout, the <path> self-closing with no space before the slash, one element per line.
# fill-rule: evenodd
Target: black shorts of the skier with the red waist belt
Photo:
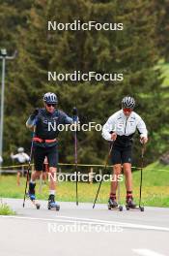
<path fill-rule="evenodd" d="M 58 164 L 58 146 L 34 146 L 34 164 L 36 171 L 43 170 L 45 156 L 47 157 L 48 166 L 56 168 Z"/>

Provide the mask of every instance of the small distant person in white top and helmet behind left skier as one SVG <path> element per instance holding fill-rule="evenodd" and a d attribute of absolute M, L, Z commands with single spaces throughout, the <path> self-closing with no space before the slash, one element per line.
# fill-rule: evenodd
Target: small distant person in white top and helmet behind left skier
<path fill-rule="evenodd" d="M 22 164 L 25 164 L 29 161 L 29 155 L 24 152 L 23 147 L 17 148 L 17 154 L 11 153 L 11 158 L 16 161 L 17 164 L 21 165 L 17 171 L 17 186 L 20 185 L 20 174 L 24 174 L 24 167 Z"/>

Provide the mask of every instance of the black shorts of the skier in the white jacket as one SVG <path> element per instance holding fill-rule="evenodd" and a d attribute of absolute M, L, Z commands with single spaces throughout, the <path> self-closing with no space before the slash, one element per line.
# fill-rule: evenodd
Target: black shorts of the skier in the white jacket
<path fill-rule="evenodd" d="M 113 147 L 111 153 L 111 161 L 113 165 L 117 164 L 131 164 L 131 155 L 132 155 L 132 148 L 131 146 L 127 146 L 124 148 L 120 147 Z"/>

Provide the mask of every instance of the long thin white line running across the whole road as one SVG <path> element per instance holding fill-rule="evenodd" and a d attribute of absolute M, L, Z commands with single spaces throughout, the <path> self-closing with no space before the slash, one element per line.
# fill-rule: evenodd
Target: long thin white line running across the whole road
<path fill-rule="evenodd" d="M 13 218 L 13 219 L 27 219 L 27 220 L 41 220 L 41 221 L 53 221 L 53 222 L 69 222 L 74 223 L 77 222 L 79 224 L 102 224 L 102 225 L 114 225 L 120 226 L 124 228 L 133 228 L 133 229 L 143 229 L 143 230 L 155 230 L 155 231 L 166 231 L 169 232 L 169 228 L 165 227 L 156 227 L 156 226 L 148 226 L 148 225 L 140 225 L 140 224 L 132 224 L 132 223 L 124 223 L 124 222 L 115 222 L 115 221 L 106 221 L 100 219 L 90 219 L 90 218 L 76 218 L 76 217 L 68 217 L 68 216 L 57 216 L 56 218 L 38 218 L 38 217 L 28 217 L 28 216 L 0 216 L 1 218 Z"/>

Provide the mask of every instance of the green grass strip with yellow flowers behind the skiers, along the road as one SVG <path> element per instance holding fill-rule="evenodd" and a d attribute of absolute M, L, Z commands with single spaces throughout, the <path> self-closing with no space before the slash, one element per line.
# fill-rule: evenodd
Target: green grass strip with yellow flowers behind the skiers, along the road
<path fill-rule="evenodd" d="M 160 171 L 162 170 L 162 171 Z M 143 171 L 142 199 L 145 206 L 169 207 L 169 166 L 160 165 L 158 162 L 148 166 Z M 138 203 L 140 172 L 133 173 L 134 198 Z M 42 193 L 39 191 L 37 181 L 37 198 L 46 200 L 48 197 L 48 185 L 42 185 Z M 15 176 L 0 176 L 0 197 L 23 198 L 25 178 L 21 178 L 21 185 L 16 186 Z M 109 195 L 109 182 L 101 185 L 98 203 L 106 203 Z M 99 183 L 78 183 L 79 202 L 93 202 Z M 122 202 L 125 203 L 126 189 L 124 182 L 121 184 Z M 58 201 L 75 201 L 75 182 L 59 182 L 57 185 Z"/>

